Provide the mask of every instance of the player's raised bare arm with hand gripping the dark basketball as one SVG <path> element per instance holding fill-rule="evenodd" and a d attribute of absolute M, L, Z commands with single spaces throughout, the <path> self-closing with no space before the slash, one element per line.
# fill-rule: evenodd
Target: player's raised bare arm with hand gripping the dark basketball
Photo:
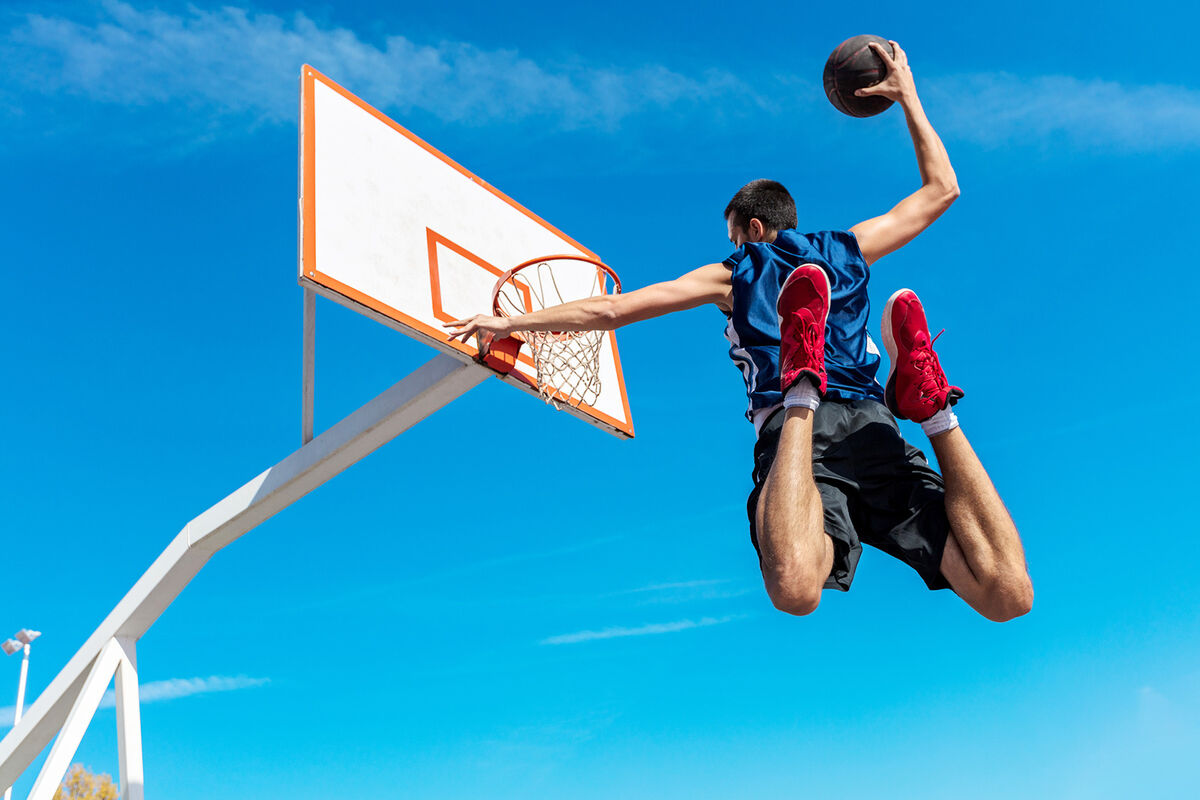
<path fill-rule="evenodd" d="M 883 216 L 866 219 L 850 229 L 858 237 L 868 264 L 907 245 L 959 197 L 959 181 L 950 166 L 950 157 L 920 106 L 917 85 L 908 68 L 908 56 L 895 42 L 892 42 L 894 58 L 874 42 L 871 47 L 887 65 L 888 77 L 874 86 L 859 89 L 857 94 L 882 95 L 894 100 L 904 109 L 908 133 L 917 149 L 920 188 Z"/>

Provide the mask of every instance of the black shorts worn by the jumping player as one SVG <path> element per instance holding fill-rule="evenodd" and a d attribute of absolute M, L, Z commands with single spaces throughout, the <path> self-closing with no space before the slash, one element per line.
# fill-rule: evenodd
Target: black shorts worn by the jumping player
<path fill-rule="evenodd" d="M 754 449 L 746 513 L 755 551 L 755 511 L 775 461 L 784 414 L 780 409 L 768 417 Z M 930 589 L 949 588 L 941 570 L 950 531 L 946 485 L 924 453 L 904 440 L 887 408 L 870 399 L 822 401 L 812 420 L 812 477 L 834 543 L 826 589 L 850 589 L 863 543 L 911 566 Z"/>

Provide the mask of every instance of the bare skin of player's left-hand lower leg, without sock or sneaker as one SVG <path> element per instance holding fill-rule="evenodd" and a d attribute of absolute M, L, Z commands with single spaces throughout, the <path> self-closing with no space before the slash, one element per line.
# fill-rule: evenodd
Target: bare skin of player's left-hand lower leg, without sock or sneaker
<path fill-rule="evenodd" d="M 810 614 L 833 569 L 833 542 L 812 481 L 812 409 L 790 408 L 785 414 L 775 462 L 758 495 L 758 552 L 775 607 Z"/>

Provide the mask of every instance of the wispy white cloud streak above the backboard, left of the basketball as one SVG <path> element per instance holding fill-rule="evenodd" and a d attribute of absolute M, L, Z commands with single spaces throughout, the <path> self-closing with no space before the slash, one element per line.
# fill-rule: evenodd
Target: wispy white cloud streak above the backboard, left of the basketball
<path fill-rule="evenodd" d="M 115 1 L 102 7 L 96 22 L 26 16 L 5 36 L 10 72 L 42 91 L 122 106 L 203 106 L 266 122 L 294 119 L 304 62 L 373 104 L 466 124 L 546 119 L 557 127 L 612 127 L 642 110 L 748 91 L 720 71 L 554 67 L 516 49 L 421 44 L 401 35 L 372 43 L 301 12 L 283 19 L 228 6 L 178 16 Z"/>

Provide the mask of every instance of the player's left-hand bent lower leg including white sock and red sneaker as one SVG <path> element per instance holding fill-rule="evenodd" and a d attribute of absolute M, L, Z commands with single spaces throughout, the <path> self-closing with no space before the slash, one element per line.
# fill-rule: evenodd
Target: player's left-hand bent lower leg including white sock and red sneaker
<path fill-rule="evenodd" d="M 780 386 L 786 417 L 775 462 L 755 512 L 762 577 L 780 610 L 809 614 L 833 569 L 821 495 L 812 481 L 812 414 L 826 389 L 824 327 L 829 279 L 797 267 L 779 293 Z"/>

